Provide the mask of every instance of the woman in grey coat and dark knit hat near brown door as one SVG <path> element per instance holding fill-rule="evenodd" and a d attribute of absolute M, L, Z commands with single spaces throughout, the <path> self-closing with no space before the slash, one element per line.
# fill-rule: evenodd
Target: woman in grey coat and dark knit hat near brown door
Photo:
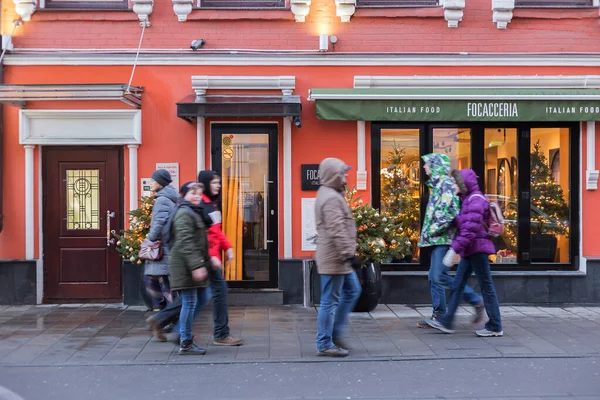
<path fill-rule="evenodd" d="M 154 207 L 150 220 L 150 232 L 148 240 L 153 242 L 163 240 L 166 224 L 171 211 L 179 202 L 177 190 L 169 186 L 172 182 L 169 171 L 159 169 L 152 174 L 154 180 L 152 190 L 154 195 Z M 144 264 L 144 284 L 146 292 L 152 299 L 152 309 L 160 311 L 167 303 L 173 301 L 171 287 L 169 285 L 169 248 L 165 243 L 162 245 L 163 257 L 157 261 L 146 261 Z"/>

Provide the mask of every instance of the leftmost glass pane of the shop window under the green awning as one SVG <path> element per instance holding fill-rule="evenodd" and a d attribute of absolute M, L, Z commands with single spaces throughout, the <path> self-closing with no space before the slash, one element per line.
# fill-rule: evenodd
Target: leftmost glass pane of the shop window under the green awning
<path fill-rule="evenodd" d="M 398 262 L 419 260 L 420 157 L 419 129 L 381 130 L 380 208 L 401 222 L 412 246 L 412 256 Z"/>

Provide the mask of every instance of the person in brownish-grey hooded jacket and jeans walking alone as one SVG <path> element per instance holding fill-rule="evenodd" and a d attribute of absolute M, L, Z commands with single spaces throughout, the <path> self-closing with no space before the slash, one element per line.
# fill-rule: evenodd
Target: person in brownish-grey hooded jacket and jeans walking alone
<path fill-rule="evenodd" d="M 317 355 L 346 357 L 341 346 L 348 314 L 360 296 L 354 272 L 356 223 L 344 198 L 348 167 L 342 160 L 326 158 L 319 166 L 317 192 L 317 270 L 321 275 L 321 307 L 317 326 Z"/>

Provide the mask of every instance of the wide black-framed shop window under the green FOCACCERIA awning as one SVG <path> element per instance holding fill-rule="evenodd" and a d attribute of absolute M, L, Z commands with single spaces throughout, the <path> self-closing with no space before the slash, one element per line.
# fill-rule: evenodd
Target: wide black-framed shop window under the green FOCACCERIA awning
<path fill-rule="evenodd" d="M 429 267 L 428 251 L 417 243 L 429 195 L 420 157 L 431 151 L 448 155 L 452 168 L 475 170 L 481 190 L 502 209 L 505 229 L 492 239 L 493 269 L 576 268 L 579 130 L 565 125 L 374 123 L 372 162 L 380 178 L 373 181 L 373 205 L 400 219 L 413 246 L 411 257 L 384 269 Z"/>

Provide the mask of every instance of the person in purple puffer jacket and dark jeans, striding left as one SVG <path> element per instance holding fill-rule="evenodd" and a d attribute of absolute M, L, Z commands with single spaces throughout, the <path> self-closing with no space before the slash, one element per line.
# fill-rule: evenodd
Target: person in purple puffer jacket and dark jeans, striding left
<path fill-rule="evenodd" d="M 502 336 L 500 307 L 488 259 L 490 254 L 495 253 L 495 248 L 487 228 L 484 226 L 484 221 L 487 221 L 490 216 L 490 204 L 479 190 L 475 171 L 472 169 L 464 169 L 460 172 L 453 170 L 451 175 L 456 181 L 461 199 L 460 214 L 455 219 L 459 233 L 446 253 L 443 263 L 447 267 L 452 267 L 456 254 L 460 255 L 461 260 L 456 271 L 456 278 L 454 278 L 446 314 L 436 320 L 427 320 L 427 324 L 442 332 L 454 333 L 454 329 L 452 329 L 454 314 L 463 296 L 467 281 L 474 271 L 489 317 L 485 329 L 475 333 L 477 336 L 483 337 Z"/>

